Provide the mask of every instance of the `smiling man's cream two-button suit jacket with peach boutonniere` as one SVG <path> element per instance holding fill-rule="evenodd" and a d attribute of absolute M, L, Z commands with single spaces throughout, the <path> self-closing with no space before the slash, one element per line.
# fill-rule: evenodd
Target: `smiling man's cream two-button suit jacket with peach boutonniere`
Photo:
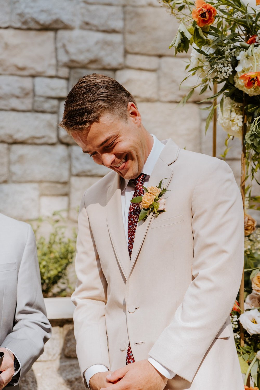
<path fill-rule="evenodd" d="M 165 389 L 243 390 L 229 317 L 243 269 L 241 194 L 224 161 L 164 143 L 149 186 L 166 178 L 167 212 L 138 223 L 131 262 L 120 176 L 83 196 L 72 297 L 82 377 L 94 364 L 123 367 L 129 340 L 135 361 L 176 372 Z"/>

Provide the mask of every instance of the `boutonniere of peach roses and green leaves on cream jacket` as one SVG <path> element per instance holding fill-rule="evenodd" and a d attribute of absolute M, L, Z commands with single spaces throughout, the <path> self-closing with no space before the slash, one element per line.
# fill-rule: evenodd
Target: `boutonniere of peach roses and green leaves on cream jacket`
<path fill-rule="evenodd" d="M 131 199 L 132 203 L 140 203 L 141 212 L 139 214 L 138 222 L 141 220 L 146 220 L 147 216 L 152 212 L 154 213 L 154 218 L 156 218 L 159 213 L 164 213 L 165 210 L 165 199 L 163 198 L 163 194 L 166 191 L 166 188 L 162 188 L 163 180 L 161 179 L 159 186 L 156 187 L 144 187 L 145 193 L 143 196 L 137 196 Z"/>

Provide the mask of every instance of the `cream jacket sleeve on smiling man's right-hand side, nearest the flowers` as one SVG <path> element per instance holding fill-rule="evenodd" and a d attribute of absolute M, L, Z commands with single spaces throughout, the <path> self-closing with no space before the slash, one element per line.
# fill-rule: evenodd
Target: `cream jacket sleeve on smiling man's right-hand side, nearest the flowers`
<path fill-rule="evenodd" d="M 228 318 L 244 265 L 242 198 L 221 160 L 203 168 L 191 204 L 193 281 L 149 355 L 191 382 Z"/>

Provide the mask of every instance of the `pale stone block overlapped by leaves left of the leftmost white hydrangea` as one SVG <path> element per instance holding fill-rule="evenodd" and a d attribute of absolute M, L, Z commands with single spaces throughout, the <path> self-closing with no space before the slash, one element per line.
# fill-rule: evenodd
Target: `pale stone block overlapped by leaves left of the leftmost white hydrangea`
<path fill-rule="evenodd" d="M 163 57 L 160 59 L 159 66 L 159 100 L 161 101 L 179 101 L 187 94 L 191 87 L 197 85 L 200 80 L 198 76 L 189 76 L 189 72 L 185 70 L 189 60 L 187 58 L 170 58 Z M 187 77 L 181 87 L 180 83 Z M 213 92 L 210 90 L 202 95 L 199 95 L 200 88 L 195 90 L 193 96 L 189 99 L 190 102 L 202 101 L 206 97 L 210 97 Z"/>

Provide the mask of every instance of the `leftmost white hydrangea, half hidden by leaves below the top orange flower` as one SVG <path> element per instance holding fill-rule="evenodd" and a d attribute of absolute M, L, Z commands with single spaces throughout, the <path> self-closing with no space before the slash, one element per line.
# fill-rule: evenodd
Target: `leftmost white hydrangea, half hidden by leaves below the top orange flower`
<path fill-rule="evenodd" d="M 195 50 L 195 48 L 198 49 L 198 46 L 193 44 L 193 47 L 191 49 L 191 65 L 190 69 L 193 69 L 197 66 L 202 66 L 201 69 L 198 69 L 196 73 L 198 76 L 203 80 L 204 78 L 213 78 L 216 76 L 215 73 L 212 72 L 212 69 L 210 68 L 209 62 L 207 61 L 207 58 L 204 54 L 198 53 L 198 51 Z M 210 46 L 202 46 L 202 50 L 205 51 L 205 53 L 214 53 L 214 50 Z"/>

